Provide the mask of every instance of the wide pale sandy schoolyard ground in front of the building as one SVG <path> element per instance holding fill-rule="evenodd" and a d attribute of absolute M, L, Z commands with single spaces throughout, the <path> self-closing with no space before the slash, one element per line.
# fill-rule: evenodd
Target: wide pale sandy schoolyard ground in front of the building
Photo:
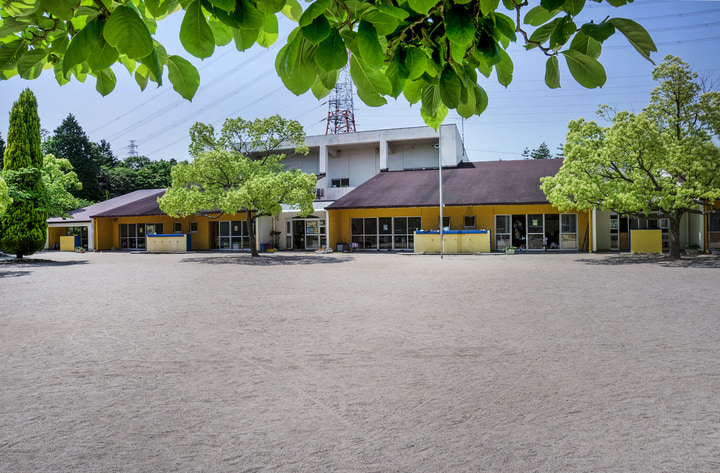
<path fill-rule="evenodd" d="M 720 471 L 717 257 L 31 259 L 1 472 Z"/>

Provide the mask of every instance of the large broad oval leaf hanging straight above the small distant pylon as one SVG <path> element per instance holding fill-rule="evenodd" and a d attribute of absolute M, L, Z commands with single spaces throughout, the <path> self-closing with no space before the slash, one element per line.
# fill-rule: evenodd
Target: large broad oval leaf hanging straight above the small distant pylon
<path fill-rule="evenodd" d="M 153 48 L 147 25 L 134 9 L 125 5 L 117 7 L 107 20 L 103 36 L 120 54 L 126 54 L 132 59 L 147 56 Z M 72 43 L 70 45 L 72 46 Z"/>

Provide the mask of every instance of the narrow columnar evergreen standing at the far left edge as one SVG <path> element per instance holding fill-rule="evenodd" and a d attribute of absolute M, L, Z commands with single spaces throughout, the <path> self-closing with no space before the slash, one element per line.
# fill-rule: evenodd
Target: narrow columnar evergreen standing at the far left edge
<path fill-rule="evenodd" d="M 31 255 L 45 244 L 47 213 L 40 210 L 42 164 L 37 100 L 25 89 L 10 112 L 3 175 L 13 202 L 0 216 L 0 247 L 17 258 Z"/>

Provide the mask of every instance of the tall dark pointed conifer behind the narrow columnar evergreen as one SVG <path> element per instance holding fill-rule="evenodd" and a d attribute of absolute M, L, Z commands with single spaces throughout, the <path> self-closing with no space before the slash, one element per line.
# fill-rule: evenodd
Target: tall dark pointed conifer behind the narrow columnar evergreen
<path fill-rule="evenodd" d="M 90 141 L 72 114 L 69 114 L 55 129 L 53 136 L 43 143 L 43 150 L 58 159 L 67 159 L 72 164 L 82 187 L 71 189 L 71 194 L 90 202 L 102 199 L 98 182 L 100 149 Z"/>

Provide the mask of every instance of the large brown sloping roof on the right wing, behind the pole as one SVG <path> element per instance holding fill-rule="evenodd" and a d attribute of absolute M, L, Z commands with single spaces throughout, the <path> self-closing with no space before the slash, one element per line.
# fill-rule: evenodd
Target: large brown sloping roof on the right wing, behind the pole
<path fill-rule="evenodd" d="M 484 161 L 443 169 L 449 206 L 545 204 L 540 178 L 554 176 L 562 159 Z M 439 204 L 437 170 L 381 172 L 329 209 L 431 207 Z"/>

